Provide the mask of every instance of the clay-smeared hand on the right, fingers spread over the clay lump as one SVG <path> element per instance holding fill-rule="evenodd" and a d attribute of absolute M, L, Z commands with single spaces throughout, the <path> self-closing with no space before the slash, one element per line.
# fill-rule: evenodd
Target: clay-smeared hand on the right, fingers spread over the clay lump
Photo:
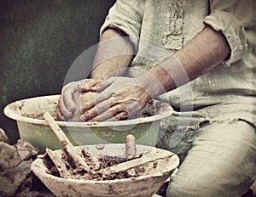
<path fill-rule="evenodd" d="M 137 114 L 151 99 L 142 84 L 142 79 L 129 77 L 111 77 L 101 82 L 96 98 L 84 104 L 80 120 L 118 121 Z"/>

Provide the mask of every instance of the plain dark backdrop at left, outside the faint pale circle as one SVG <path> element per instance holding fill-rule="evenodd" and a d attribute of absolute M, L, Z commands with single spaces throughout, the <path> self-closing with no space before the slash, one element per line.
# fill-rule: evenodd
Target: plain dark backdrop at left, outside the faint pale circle
<path fill-rule="evenodd" d="M 0 127 L 19 138 L 3 108 L 15 100 L 61 93 L 67 70 L 98 42 L 113 0 L 0 0 Z"/>

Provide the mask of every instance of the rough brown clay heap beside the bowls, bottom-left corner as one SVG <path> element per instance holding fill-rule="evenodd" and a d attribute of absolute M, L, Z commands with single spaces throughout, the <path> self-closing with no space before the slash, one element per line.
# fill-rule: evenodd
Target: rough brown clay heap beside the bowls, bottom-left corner
<path fill-rule="evenodd" d="M 0 131 L 0 197 L 43 196 L 32 191 L 31 164 L 38 149 L 24 140 L 7 144 L 6 134 Z M 7 138 L 8 139 L 8 138 Z"/>

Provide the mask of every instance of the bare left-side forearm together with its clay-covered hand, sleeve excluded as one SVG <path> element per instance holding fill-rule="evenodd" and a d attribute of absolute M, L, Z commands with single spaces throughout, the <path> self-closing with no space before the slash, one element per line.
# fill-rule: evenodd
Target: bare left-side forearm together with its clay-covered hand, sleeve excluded
<path fill-rule="evenodd" d="M 93 68 L 90 72 L 89 80 L 68 83 L 61 90 L 61 97 L 58 101 L 57 117 L 64 121 L 71 118 L 75 114 L 79 114 L 76 105 L 81 105 L 88 99 L 93 99 L 96 93 L 86 93 L 79 97 L 79 88 L 86 92 L 106 80 L 111 76 L 121 76 L 125 73 L 126 68 L 130 65 L 133 58 L 133 44 L 129 37 L 125 37 L 125 33 L 117 29 L 108 28 L 102 33 L 102 37 L 97 46 L 96 57 Z M 96 91 L 95 91 L 96 92 Z M 77 117 L 73 117 L 72 121 L 77 121 Z"/>

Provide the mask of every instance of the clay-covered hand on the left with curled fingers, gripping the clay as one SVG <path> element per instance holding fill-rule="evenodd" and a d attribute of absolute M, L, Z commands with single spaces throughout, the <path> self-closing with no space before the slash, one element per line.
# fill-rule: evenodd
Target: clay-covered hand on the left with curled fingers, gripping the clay
<path fill-rule="evenodd" d="M 57 104 L 57 119 L 64 121 L 70 119 L 75 113 L 78 114 L 80 106 L 82 107 L 84 102 L 88 98 L 92 99 L 92 93 L 81 93 L 81 91 L 94 91 L 101 88 L 97 85 L 102 82 L 100 80 L 85 79 L 79 82 L 70 82 L 64 86 L 61 90 L 61 96 Z M 79 106 L 77 106 L 79 104 Z"/>

